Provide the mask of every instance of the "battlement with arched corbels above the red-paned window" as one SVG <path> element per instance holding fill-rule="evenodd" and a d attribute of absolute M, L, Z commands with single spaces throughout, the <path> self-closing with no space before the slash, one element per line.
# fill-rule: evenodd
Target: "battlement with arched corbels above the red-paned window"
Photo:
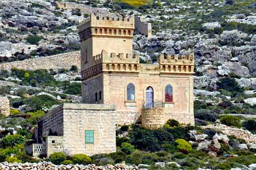
<path fill-rule="evenodd" d="M 159 56 L 161 73 L 194 73 L 194 53 L 189 55 L 163 55 Z"/>

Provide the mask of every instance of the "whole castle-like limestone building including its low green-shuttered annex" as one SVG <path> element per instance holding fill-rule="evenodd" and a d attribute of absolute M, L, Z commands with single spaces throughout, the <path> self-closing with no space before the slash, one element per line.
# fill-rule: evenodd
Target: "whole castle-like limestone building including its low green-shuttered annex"
<path fill-rule="evenodd" d="M 194 54 L 142 64 L 132 54 L 133 32 L 134 16 L 91 14 L 78 23 L 83 104 L 63 104 L 40 118 L 35 137 L 41 144 L 27 147 L 28 153 L 115 152 L 116 124 L 156 129 L 172 118 L 194 124 Z"/>

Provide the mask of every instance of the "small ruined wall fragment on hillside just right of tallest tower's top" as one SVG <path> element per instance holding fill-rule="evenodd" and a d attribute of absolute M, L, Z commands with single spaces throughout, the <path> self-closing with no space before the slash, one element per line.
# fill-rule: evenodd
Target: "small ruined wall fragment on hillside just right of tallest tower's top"
<path fill-rule="evenodd" d="M 135 31 L 147 36 L 148 38 L 152 37 L 152 26 L 151 23 L 146 23 L 140 16 L 135 16 Z"/>

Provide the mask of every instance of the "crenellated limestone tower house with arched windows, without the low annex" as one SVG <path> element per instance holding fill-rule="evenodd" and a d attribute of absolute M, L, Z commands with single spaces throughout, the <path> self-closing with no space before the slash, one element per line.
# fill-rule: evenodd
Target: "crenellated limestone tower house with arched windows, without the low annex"
<path fill-rule="evenodd" d="M 133 17 L 91 15 L 79 23 L 82 103 L 114 104 L 117 124 L 158 128 L 171 118 L 194 124 L 194 54 L 141 64 L 132 54 L 133 30 Z"/>

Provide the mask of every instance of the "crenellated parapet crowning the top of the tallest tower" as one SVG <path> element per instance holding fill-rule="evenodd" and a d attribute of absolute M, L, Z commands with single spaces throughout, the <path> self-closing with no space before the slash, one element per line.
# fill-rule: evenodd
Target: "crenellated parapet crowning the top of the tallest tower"
<path fill-rule="evenodd" d="M 78 32 L 83 31 L 89 27 L 99 28 L 125 28 L 134 29 L 134 16 L 130 18 L 119 18 L 110 16 L 95 16 L 91 14 L 89 18 L 78 22 Z"/>

